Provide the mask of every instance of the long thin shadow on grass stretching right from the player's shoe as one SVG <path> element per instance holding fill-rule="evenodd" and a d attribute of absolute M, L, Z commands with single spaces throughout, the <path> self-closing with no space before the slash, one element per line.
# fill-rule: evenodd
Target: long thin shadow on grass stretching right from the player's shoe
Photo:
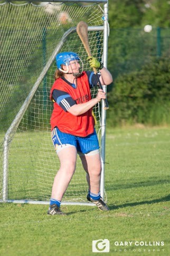
<path fill-rule="evenodd" d="M 135 202 L 135 203 L 127 203 L 127 204 L 122 204 L 122 205 L 110 205 L 109 208 L 110 210 L 114 209 L 119 209 L 119 208 L 124 208 L 128 206 L 137 206 L 137 205 L 144 205 L 144 204 L 156 204 L 156 203 L 161 203 L 161 202 L 168 202 L 170 201 L 170 195 L 167 195 L 165 197 L 159 198 L 159 199 L 154 199 L 150 201 L 142 201 L 142 202 Z"/>

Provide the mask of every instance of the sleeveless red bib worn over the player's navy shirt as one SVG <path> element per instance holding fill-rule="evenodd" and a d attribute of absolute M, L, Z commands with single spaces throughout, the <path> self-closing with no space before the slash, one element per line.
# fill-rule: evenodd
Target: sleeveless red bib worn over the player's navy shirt
<path fill-rule="evenodd" d="M 77 104 L 88 102 L 91 99 L 89 79 L 86 72 L 82 72 L 82 75 L 77 78 L 77 88 L 73 88 L 62 78 L 56 79 L 50 92 L 51 100 L 54 89 L 68 93 Z M 51 130 L 56 126 L 61 132 L 80 137 L 86 137 L 94 132 L 95 122 L 92 116 L 92 108 L 82 115 L 74 116 L 65 112 L 55 102 L 50 121 Z"/>

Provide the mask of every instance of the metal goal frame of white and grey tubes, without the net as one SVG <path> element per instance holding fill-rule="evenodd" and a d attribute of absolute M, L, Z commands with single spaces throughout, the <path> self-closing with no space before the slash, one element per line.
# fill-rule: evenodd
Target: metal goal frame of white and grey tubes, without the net
<path fill-rule="evenodd" d="M 21 0 L 19 0 L 21 1 Z M 46 2 L 46 0 L 38 0 L 37 2 Z M 103 64 L 107 67 L 107 51 L 108 51 L 108 34 L 109 34 L 109 25 L 108 25 L 108 1 L 107 0 L 52 0 L 51 2 L 62 2 L 62 3 L 103 3 L 103 26 L 88 26 L 88 31 L 103 31 Z M 66 31 L 60 43 L 54 49 L 49 61 L 44 66 L 39 78 L 37 78 L 35 84 L 33 85 L 30 94 L 25 99 L 23 105 L 18 111 L 17 115 L 15 116 L 13 122 L 11 123 L 9 129 L 7 130 L 4 136 L 4 145 L 3 145 L 3 189 L 2 189 L 2 199 L 0 200 L 1 203 L 29 203 L 29 204 L 49 204 L 48 201 L 38 201 L 38 200 L 15 200 L 15 199 L 8 199 L 8 157 L 9 157 L 9 148 L 11 143 L 11 134 L 15 133 L 17 130 L 18 125 L 20 124 L 22 117 L 26 111 L 26 108 L 29 106 L 37 88 L 41 84 L 44 76 L 48 72 L 52 62 L 55 59 L 56 54 L 62 48 L 67 36 L 71 33 L 76 31 L 76 27 L 70 28 Z M 103 90 L 107 92 L 106 86 L 103 86 Z M 105 142 L 106 142 L 106 110 L 104 109 L 104 103 L 101 102 L 101 184 L 100 184 L 100 193 L 101 197 L 105 197 Z M 62 202 L 62 205 L 88 205 L 93 206 L 92 203 L 84 203 L 84 202 Z"/>

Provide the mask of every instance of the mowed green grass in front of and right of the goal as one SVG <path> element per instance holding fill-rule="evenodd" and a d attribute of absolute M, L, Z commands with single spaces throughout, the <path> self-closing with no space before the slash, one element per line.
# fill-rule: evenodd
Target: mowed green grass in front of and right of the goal
<path fill-rule="evenodd" d="M 0 204 L 0 255 L 93 255 L 99 239 L 109 255 L 170 255 L 169 166 L 169 127 L 107 129 L 110 211 L 63 205 L 67 216 L 48 216 L 48 205 Z"/>

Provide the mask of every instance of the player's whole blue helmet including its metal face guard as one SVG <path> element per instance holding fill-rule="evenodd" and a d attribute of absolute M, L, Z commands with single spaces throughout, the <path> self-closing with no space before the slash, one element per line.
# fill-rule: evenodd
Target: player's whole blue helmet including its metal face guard
<path fill-rule="evenodd" d="M 69 67 L 68 66 L 70 65 L 70 61 L 72 61 L 72 60 L 79 60 L 79 61 L 81 61 L 81 65 L 82 65 L 81 69 L 83 70 L 82 60 L 79 58 L 77 53 L 75 53 L 75 52 L 61 52 L 61 53 L 58 53 L 56 55 L 55 60 L 56 60 L 56 66 L 63 73 L 65 73 L 65 74 L 73 74 L 73 76 L 75 76 L 75 77 L 81 76 L 82 71 L 78 72 L 78 73 L 74 73 L 74 72 L 69 73 Z M 67 70 L 63 70 L 62 69 L 62 65 L 65 65 L 67 67 Z"/>

